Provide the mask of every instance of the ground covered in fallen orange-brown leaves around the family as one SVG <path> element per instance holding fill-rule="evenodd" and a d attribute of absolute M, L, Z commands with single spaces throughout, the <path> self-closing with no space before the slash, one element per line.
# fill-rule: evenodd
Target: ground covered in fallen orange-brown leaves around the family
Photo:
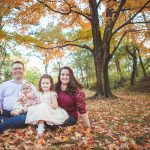
<path fill-rule="evenodd" d="M 35 127 L 7 130 L 0 150 L 147 150 L 150 149 L 150 95 L 117 93 L 116 100 L 87 101 L 92 129 L 79 123 L 36 135 Z"/>

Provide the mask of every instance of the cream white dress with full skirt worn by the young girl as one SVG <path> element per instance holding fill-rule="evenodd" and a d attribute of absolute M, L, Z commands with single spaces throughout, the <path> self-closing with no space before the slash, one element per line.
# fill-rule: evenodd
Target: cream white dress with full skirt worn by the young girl
<path fill-rule="evenodd" d="M 69 115 L 60 107 L 57 109 L 51 107 L 54 96 L 57 96 L 55 92 L 39 93 L 41 103 L 29 107 L 25 123 L 37 124 L 38 121 L 43 120 L 48 125 L 63 124 Z"/>

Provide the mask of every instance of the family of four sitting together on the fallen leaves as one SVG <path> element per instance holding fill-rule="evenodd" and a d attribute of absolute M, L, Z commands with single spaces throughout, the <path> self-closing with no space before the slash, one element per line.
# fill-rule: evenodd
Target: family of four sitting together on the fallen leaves
<path fill-rule="evenodd" d="M 36 125 L 37 134 L 50 129 L 75 125 L 78 113 L 86 127 L 90 121 L 86 110 L 85 94 L 70 67 L 59 71 L 54 85 L 50 75 L 44 74 L 38 90 L 24 79 L 24 64 L 12 64 L 13 79 L 0 85 L 0 134 L 7 129 Z"/>

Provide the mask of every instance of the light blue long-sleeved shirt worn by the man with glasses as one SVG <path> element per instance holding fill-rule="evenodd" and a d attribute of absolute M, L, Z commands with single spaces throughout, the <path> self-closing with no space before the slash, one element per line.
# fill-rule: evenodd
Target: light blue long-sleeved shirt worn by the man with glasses
<path fill-rule="evenodd" d="M 0 85 L 0 108 L 9 111 L 13 110 L 13 106 L 21 92 L 21 85 L 24 82 L 27 81 L 22 80 L 20 83 L 16 83 L 15 80 L 9 80 Z M 35 96 L 38 97 L 36 88 L 32 84 L 31 87 Z"/>

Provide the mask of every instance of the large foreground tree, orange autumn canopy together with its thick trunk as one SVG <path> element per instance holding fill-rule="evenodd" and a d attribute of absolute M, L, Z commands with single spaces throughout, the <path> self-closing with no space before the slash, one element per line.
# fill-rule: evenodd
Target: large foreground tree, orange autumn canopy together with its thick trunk
<path fill-rule="evenodd" d="M 149 52 L 149 7 L 150 0 L 4 0 L 0 7 L 0 39 L 35 47 L 46 64 L 66 49 L 90 51 L 96 72 L 95 96 L 113 97 L 108 65 L 123 40 L 128 39 L 125 45 L 136 43 L 144 55 Z M 25 34 L 41 18 L 54 25 L 35 35 Z M 18 31 L 5 31 L 5 24 L 13 24 Z"/>

